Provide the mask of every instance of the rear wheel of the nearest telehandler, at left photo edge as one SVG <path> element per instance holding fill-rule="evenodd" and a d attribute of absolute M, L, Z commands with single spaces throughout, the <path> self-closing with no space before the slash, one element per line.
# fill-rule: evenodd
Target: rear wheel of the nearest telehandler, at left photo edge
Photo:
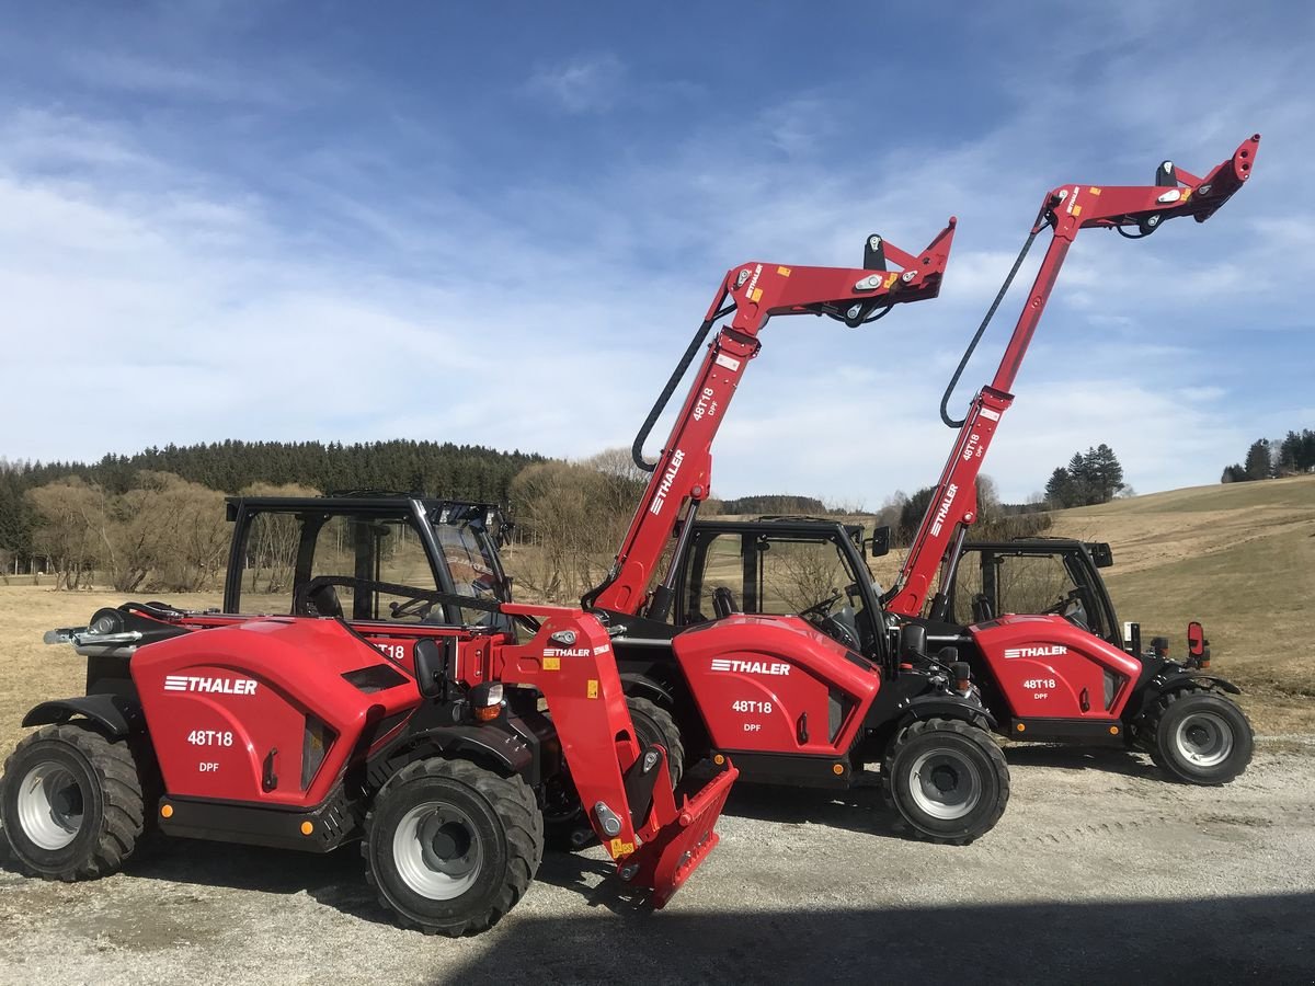
<path fill-rule="evenodd" d="M 109 876 L 142 836 L 145 805 L 125 740 L 84 723 L 24 739 L 0 780 L 0 824 L 22 869 L 45 880 Z"/>

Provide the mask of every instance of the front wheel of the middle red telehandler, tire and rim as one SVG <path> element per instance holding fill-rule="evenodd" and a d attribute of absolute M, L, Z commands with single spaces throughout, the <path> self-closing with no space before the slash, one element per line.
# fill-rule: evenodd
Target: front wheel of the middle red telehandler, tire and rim
<path fill-rule="evenodd" d="M 899 731 L 881 766 L 886 797 L 923 839 L 967 845 L 1009 805 L 1009 764 L 986 730 L 920 719 Z"/>

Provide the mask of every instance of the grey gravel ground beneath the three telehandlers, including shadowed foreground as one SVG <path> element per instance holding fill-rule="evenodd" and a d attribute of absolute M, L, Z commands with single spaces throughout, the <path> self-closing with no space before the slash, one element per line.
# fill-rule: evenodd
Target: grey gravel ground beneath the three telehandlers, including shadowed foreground
<path fill-rule="evenodd" d="M 0 869 L 0 982 L 1315 982 L 1311 738 L 1223 789 L 1122 752 L 1009 751 L 1014 797 L 965 848 L 910 841 L 873 790 L 740 785 L 664 911 L 550 855 L 473 939 L 394 928 L 354 849 L 170 841 L 93 883 Z"/>

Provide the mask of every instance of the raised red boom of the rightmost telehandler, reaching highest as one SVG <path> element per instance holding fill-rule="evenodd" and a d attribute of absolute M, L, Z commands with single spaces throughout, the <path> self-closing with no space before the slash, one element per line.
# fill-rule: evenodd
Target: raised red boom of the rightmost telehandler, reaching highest
<path fill-rule="evenodd" d="M 952 565 L 959 557 L 959 550 L 968 528 L 977 519 L 977 475 L 981 472 L 986 450 L 990 448 L 1001 415 L 1014 402 L 1010 392 L 1018 368 L 1023 363 L 1027 346 L 1036 331 L 1045 302 L 1055 287 L 1068 248 L 1078 230 L 1090 226 L 1116 229 L 1130 238 L 1149 235 L 1164 220 L 1178 216 L 1191 216 L 1197 222 L 1205 222 L 1232 195 L 1241 188 L 1251 175 L 1260 149 L 1260 134 L 1255 134 L 1239 145 L 1233 155 L 1215 167 L 1203 179 L 1165 162 L 1156 172 L 1155 185 L 1135 185 L 1110 188 L 1099 185 L 1061 185 L 1048 192 L 1041 202 L 1041 210 L 1032 226 L 1031 237 L 1049 226 L 1053 238 L 1041 267 L 1036 272 L 1032 292 L 1023 305 L 1023 313 L 1014 326 L 1014 335 L 1005 348 L 995 379 L 984 387 L 973 398 L 968 415 L 961 422 L 949 421 L 942 404 L 942 417 L 948 425 L 959 426 L 959 439 L 955 442 L 945 463 L 945 469 L 936 484 L 927 513 L 918 526 L 909 557 L 905 559 L 899 578 L 886 598 L 886 609 L 905 617 L 917 617 L 923 611 L 931 580 L 942 561 L 947 563 L 940 580 L 940 590 L 932 599 L 928 615 L 934 619 L 944 617 L 947 601 L 944 590 L 953 575 Z M 1136 227 L 1136 233 L 1124 233 L 1124 227 Z M 1031 245 L 1031 237 L 1027 245 Z M 1027 252 L 1027 246 L 1023 247 Z M 1022 262 L 1022 256 L 1019 256 Z M 1015 271 L 1018 270 L 1015 264 Z M 1003 292 L 1009 288 L 1005 281 Z M 997 298 L 999 304 L 999 298 Z M 992 309 L 994 312 L 994 308 Z M 990 316 L 988 314 L 988 321 Z M 985 329 L 985 322 L 982 325 Z M 978 330 L 978 338 L 981 330 Z M 976 339 L 973 340 L 976 346 Z M 965 354 L 965 362 L 972 346 Z M 963 363 L 960 369 L 963 369 Z M 957 381 L 957 375 L 955 377 Z M 955 381 L 951 383 L 953 389 Z M 949 392 L 945 392 L 948 400 Z M 948 553 L 947 553 L 948 552 Z"/>

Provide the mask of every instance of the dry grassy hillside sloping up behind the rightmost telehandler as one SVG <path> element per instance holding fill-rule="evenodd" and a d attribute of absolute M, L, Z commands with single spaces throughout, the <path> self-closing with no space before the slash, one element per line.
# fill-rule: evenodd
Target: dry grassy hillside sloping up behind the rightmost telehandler
<path fill-rule="evenodd" d="M 1272 709 L 1272 730 L 1315 720 L 1315 476 L 1197 486 L 1055 514 L 1056 535 L 1107 540 L 1120 619 L 1182 653 L 1206 626 L 1214 670 Z"/>

